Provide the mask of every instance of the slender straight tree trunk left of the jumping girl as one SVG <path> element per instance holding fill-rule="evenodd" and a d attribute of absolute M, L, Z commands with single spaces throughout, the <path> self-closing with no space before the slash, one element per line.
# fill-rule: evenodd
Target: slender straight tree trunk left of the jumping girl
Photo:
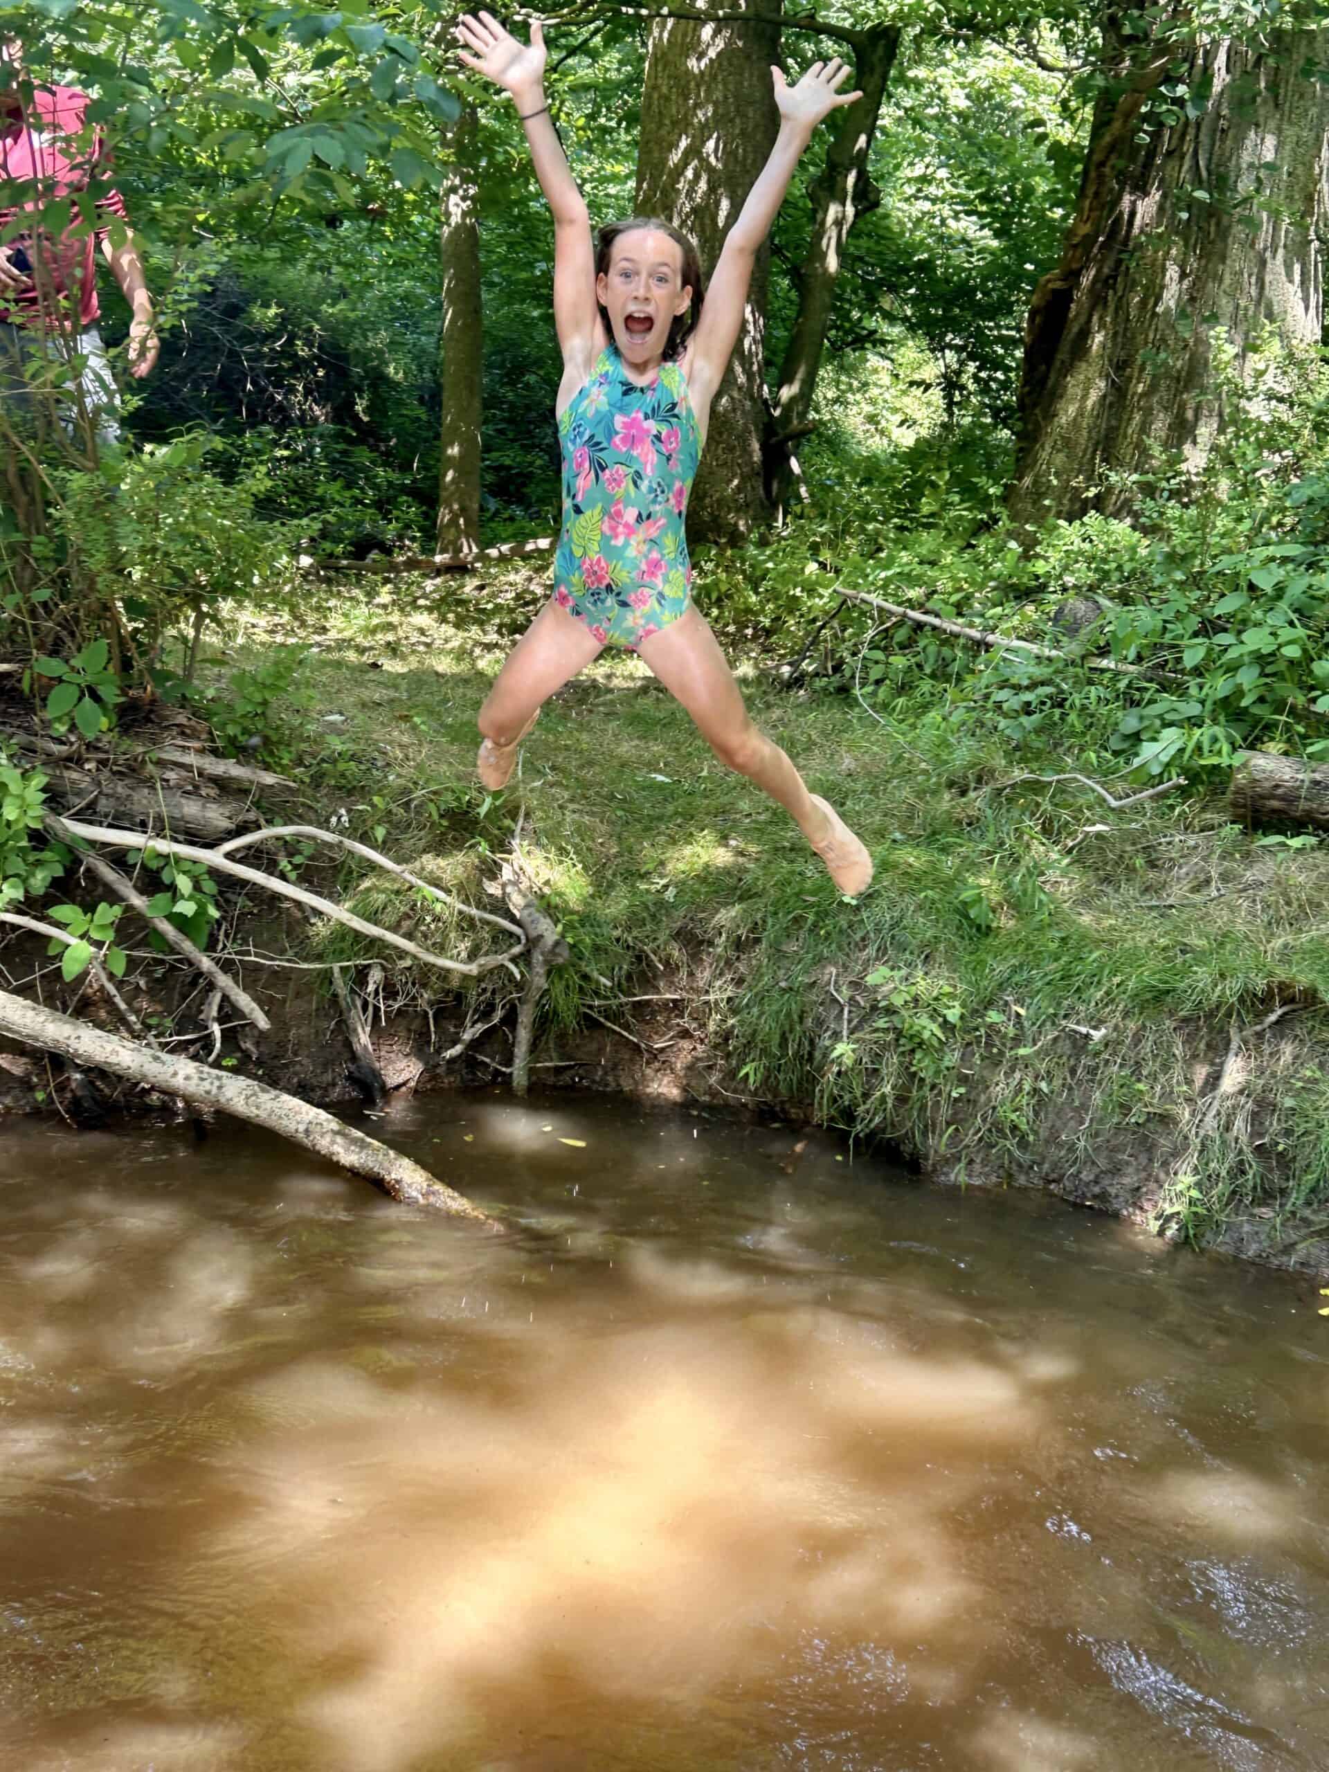
<path fill-rule="evenodd" d="M 480 548 L 480 222 L 477 186 L 477 113 L 443 126 L 439 260 L 443 328 L 439 333 L 438 553 L 470 556 Z"/>

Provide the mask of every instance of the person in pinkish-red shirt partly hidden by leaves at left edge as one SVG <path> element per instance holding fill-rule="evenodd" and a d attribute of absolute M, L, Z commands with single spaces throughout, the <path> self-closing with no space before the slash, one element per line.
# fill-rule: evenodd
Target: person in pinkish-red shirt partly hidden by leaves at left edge
<path fill-rule="evenodd" d="M 105 183 L 106 145 L 89 128 L 87 108 L 85 92 L 32 80 L 21 46 L 0 41 L 0 186 L 11 186 L 11 207 L 0 207 L 0 236 L 23 211 L 41 211 L 94 181 Z M 133 315 L 129 374 L 151 374 L 161 349 L 138 248 L 128 229 L 119 245 L 112 243 L 113 220 L 126 220 L 124 200 L 103 188 L 96 227 L 74 222 L 58 239 L 39 227 L 0 239 L 0 402 L 30 400 L 25 361 L 34 347 L 48 358 L 67 358 L 76 370 L 74 406 L 87 411 L 103 443 L 119 439 L 119 395 L 97 328 L 97 246 Z"/>

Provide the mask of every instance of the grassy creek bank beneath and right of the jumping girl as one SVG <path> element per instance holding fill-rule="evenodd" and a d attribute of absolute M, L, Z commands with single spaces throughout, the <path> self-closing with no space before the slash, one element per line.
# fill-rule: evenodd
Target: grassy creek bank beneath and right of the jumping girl
<path fill-rule="evenodd" d="M 1079 781 L 1015 781 L 1077 764 L 882 723 L 748 663 L 755 718 L 875 856 L 851 904 L 626 654 L 546 707 L 487 796 L 475 712 L 542 587 L 523 569 L 315 585 L 211 668 L 308 647 L 298 718 L 323 734 L 323 799 L 478 904 L 521 813 L 572 948 L 555 1042 L 608 1015 L 663 1072 L 686 1028 L 712 1095 L 890 1141 L 930 1177 L 1051 1185 L 1329 1267 L 1324 845 L 1253 838 L 1193 790 L 1113 810 Z"/>

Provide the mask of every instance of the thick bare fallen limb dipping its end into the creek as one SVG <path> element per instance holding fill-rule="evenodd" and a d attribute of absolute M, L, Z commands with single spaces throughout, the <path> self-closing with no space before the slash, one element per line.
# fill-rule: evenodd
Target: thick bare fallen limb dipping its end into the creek
<path fill-rule="evenodd" d="M 310 1108 L 308 1102 L 284 1095 L 282 1090 L 255 1083 L 252 1077 L 236 1077 L 225 1070 L 209 1070 L 191 1058 L 170 1058 L 165 1053 L 149 1051 L 117 1033 L 103 1033 L 73 1015 L 60 1015 L 55 1010 L 41 1008 L 23 998 L 0 991 L 0 1033 L 23 1045 L 35 1045 L 41 1051 L 62 1053 L 80 1065 L 92 1065 L 97 1070 L 110 1070 L 112 1076 L 128 1077 L 131 1083 L 145 1083 L 163 1095 L 177 1095 L 195 1108 L 220 1108 L 222 1113 L 262 1125 L 280 1138 L 289 1138 L 294 1145 L 328 1157 L 351 1175 L 363 1175 L 406 1205 L 438 1207 L 441 1212 L 454 1212 L 459 1217 L 494 1221 L 480 1207 L 471 1205 L 462 1194 L 434 1180 L 418 1162 L 402 1157 L 399 1152 L 379 1145 L 376 1138 L 358 1132 L 351 1125 L 342 1125 L 323 1108 Z"/>

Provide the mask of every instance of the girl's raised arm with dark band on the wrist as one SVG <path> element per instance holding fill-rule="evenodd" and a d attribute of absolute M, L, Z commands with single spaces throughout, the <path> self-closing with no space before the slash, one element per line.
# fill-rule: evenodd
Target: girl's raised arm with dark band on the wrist
<path fill-rule="evenodd" d="M 526 126 L 526 145 L 555 218 L 555 326 L 563 363 L 590 372 L 599 338 L 595 250 L 585 198 L 567 165 L 563 144 L 544 99 L 544 27 L 530 28 L 523 48 L 491 12 L 466 12 L 457 35 L 475 51 L 457 51 L 466 67 L 509 92 Z"/>

